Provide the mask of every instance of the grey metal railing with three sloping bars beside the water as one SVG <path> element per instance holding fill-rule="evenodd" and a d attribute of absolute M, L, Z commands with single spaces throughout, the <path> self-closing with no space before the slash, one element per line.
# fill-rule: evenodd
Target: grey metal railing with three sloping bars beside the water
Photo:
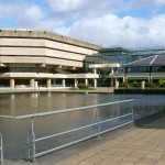
<path fill-rule="evenodd" d="M 131 106 L 129 107 L 129 111 L 128 111 L 127 114 L 124 113 L 124 114 L 121 114 L 119 117 L 110 118 L 110 119 L 106 119 L 106 120 L 100 119 L 99 111 L 102 107 L 112 106 L 112 105 L 121 105 L 121 103 L 127 103 L 127 106 L 128 106 L 128 102 L 131 102 Z M 112 131 L 114 129 L 124 127 L 129 123 L 132 123 L 133 122 L 133 103 L 132 102 L 133 102 L 133 99 L 129 99 L 129 100 L 122 100 L 122 101 L 114 101 L 114 102 L 108 102 L 108 103 L 100 103 L 100 105 L 94 105 L 94 106 L 86 106 L 86 107 L 72 108 L 72 109 L 65 109 L 65 110 L 55 110 L 55 111 L 41 112 L 41 113 L 34 113 L 34 114 L 25 114 L 25 116 L 18 116 L 18 117 L 14 117 L 14 116 L 0 116 L 0 119 L 31 119 L 31 130 L 30 130 L 30 134 L 28 136 L 28 143 L 29 143 L 28 151 L 29 151 L 30 161 L 35 162 L 36 157 L 40 157 L 40 156 L 43 156 L 45 154 L 48 154 L 48 153 L 62 150 L 64 147 L 77 144 L 79 142 L 89 140 L 89 139 L 95 138 L 95 136 L 100 136 L 100 134 L 103 134 L 106 132 L 109 132 L 109 131 Z M 36 138 L 36 135 L 35 135 L 34 120 L 36 118 L 52 116 L 52 114 L 67 113 L 67 112 L 86 111 L 86 110 L 91 110 L 91 109 L 92 110 L 95 109 L 95 113 L 96 113 L 96 116 L 95 116 L 96 121 L 94 123 L 82 125 L 82 127 L 79 127 L 79 128 L 76 128 L 76 129 L 67 130 L 67 131 L 64 131 L 64 132 L 42 136 L 42 138 Z M 124 123 L 121 123 L 119 125 L 116 125 L 113 128 L 109 128 L 107 130 L 101 130 L 100 129 L 101 124 L 108 123 L 108 122 L 113 121 L 113 120 L 120 120 L 122 118 L 129 118 L 130 120 L 125 121 Z M 48 148 L 48 150 L 40 152 L 40 153 L 36 153 L 36 143 L 37 142 L 42 142 L 42 141 L 53 139 L 53 138 L 56 138 L 56 136 L 59 136 L 59 135 L 65 135 L 67 133 L 72 133 L 72 132 L 75 132 L 75 131 L 81 131 L 84 129 L 88 129 L 88 128 L 92 128 L 92 127 L 97 127 L 97 132 L 95 132 L 91 135 L 72 141 L 69 143 L 66 143 L 66 144 L 63 144 L 63 145 L 59 145 L 59 146 L 56 146 L 56 147 L 53 147 L 53 148 Z M 1 139 L 2 139 L 2 136 L 1 136 Z M 1 152 L 2 152 L 2 150 L 1 150 Z"/>

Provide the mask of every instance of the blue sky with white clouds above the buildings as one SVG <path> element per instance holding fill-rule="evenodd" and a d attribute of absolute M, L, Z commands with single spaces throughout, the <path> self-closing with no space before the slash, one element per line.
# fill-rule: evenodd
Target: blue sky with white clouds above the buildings
<path fill-rule="evenodd" d="M 0 29 L 48 31 L 106 47 L 165 46 L 165 0 L 0 0 Z"/>

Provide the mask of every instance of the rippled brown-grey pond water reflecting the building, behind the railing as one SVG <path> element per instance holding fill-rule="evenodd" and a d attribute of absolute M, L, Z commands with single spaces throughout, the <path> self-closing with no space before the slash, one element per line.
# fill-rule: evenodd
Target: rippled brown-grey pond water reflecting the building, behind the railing
<path fill-rule="evenodd" d="M 78 94 L 18 94 L 0 95 L 0 114 L 21 116 L 36 112 L 61 110 L 67 108 L 98 105 L 125 100 L 134 98 L 134 117 L 140 118 L 155 111 L 165 109 L 165 96 L 142 96 L 142 95 L 78 95 Z M 103 107 L 99 111 L 100 119 L 113 118 L 128 113 L 128 105 L 118 105 Z M 95 119 L 95 109 L 92 111 L 79 111 L 74 113 L 63 113 L 38 118 L 35 120 L 36 138 L 54 134 L 64 130 L 78 128 L 80 125 L 92 123 Z M 125 119 L 128 120 L 128 119 Z M 121 122 L 120 120 L 102 124 L 102 130 Z M 0 132 L 4 139 L 4 157 L 18 160 L 26 157 L 26 135 L 30 130 L 30 120 L 0 120 Z M 44 131 L 43 131 L 44 130 Z M 96 129 L 81 130 L 68 134 L 64 138 L 53 139 L 51 142 L 44 142 L 45 145 L 37 147 L 44 150 L 46 145 L 61 144 L 89 133 Z M 19 147 L 18 147 L 19 146 Z M 21 146 L 21 147 L 20 147 Z M 13 152 L 14 151 L 14 152 Z"/>

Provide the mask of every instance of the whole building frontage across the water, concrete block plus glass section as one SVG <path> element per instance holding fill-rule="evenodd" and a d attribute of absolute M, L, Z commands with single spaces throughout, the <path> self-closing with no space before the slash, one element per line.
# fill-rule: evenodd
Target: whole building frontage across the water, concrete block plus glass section
<path fill-rule="evenodd" d="M 114 87 L 117 81 L 165 79 L 164 63 L 152 70 L 127 65 L 154 55 L 165 56 L 165 47 L 106 48 L 45 31 L 0 30 L 0 87 Z"/>

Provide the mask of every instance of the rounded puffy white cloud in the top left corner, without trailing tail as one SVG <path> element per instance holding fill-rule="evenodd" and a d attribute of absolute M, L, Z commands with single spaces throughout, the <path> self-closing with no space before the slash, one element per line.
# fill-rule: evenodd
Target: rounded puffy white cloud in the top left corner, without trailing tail
<path fill-rule="evenodd" d="M 11 19 L 16 26 L 35 28 L 44 18 L 40 7 L 24 2 L 2 3 L 0 2 L 0 18 Z"/>

